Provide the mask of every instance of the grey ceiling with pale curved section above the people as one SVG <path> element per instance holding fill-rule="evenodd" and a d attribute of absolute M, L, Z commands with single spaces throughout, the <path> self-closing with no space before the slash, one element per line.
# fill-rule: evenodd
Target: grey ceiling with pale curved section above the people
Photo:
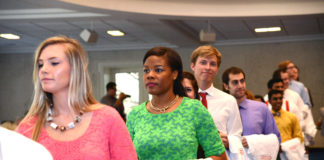
<path fill-rule="evenodd" d="M 87 51 L 195 47 L 208 26 L 216 33 L 214 45 L 324 40 L 324 1 L 0 0 L 0 33 L 21 37 L 0 38 L 0 54 L 33 53 L 54 35 L 76 38 Z M 273 26 L 282 31 L 254 32 Z M 98 33 L 96 43 L 82 41 L 85 28 Z M 109 36 L 108 29 L 126 36 Z"/>

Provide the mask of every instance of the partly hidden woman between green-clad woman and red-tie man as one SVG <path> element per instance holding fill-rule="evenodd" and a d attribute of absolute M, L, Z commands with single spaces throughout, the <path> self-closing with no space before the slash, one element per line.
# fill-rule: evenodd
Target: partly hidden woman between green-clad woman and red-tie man
<path fill-rule="evenodd" d="M 182 86 L 185 89 L 186 95 L 191 99 L 200 99 L 198 93 L 198 84 L 195 76 L 187 71 L 183 71 Z"/>

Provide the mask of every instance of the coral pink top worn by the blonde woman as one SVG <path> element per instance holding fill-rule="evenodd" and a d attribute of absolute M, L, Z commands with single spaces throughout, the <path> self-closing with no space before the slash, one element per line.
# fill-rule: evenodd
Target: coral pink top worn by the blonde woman
<path fill-rule="evenodd" d="M 18 132 L 30 138 L 35 122 L 36 117 L 24 122 L 18 128 Z M 112 107 L 93 111 L 88 129 L 75 140 L 54 140 L 48 136 L 43 127 L 38 142 L 44 145 L 57 160 L 137 159 L 125 122 Z"/>

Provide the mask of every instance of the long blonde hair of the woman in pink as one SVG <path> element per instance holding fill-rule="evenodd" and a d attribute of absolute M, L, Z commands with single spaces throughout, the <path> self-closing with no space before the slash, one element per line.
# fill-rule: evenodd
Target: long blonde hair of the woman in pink
<path fill-rule="evenodd" d="M 65 55 L 69 59 L 71 66 L 70 82 L 68 91 L 68 108 L 79 113 L 80 111 L 91 111 L 90 106 L 97 103 L 92 94 L 91 80 L 88 74 L 88 56 L 81 44 L 65 36 L 55 36 L 44 40 L 35 52 L 34 61 L 34 98 L 32 105 L 23 121 L 37 116 L 36 124 L 33 128 L 32 139 L 38 141 L 42 126 L 45 123 L 47 112 L 53 103 L 52 94 L 42 89 L 39 79 L 38 60 L 42 51 L 50 46 L 61 44 L 65 46 Z"/>

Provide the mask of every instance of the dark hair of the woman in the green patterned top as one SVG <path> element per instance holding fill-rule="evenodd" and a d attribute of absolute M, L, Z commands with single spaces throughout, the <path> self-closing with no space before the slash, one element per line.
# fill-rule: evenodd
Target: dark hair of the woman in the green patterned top
<path fill-rule="evenodd" d="M 171 67 L 172 71 L 178 71 L 178 76 L 173 82 L 173 93 L 177 94 L 181 97 L 186 96 L 184 88 L 182 86 L 182 61 L 179 54 L 167 47 L 154 47 L 148 50 L 143 58 L 143 64 L 145 63 L 146 59 L 150 56 L 158 56 L 158 57 L 165 57 L 167 63 Z"/>

